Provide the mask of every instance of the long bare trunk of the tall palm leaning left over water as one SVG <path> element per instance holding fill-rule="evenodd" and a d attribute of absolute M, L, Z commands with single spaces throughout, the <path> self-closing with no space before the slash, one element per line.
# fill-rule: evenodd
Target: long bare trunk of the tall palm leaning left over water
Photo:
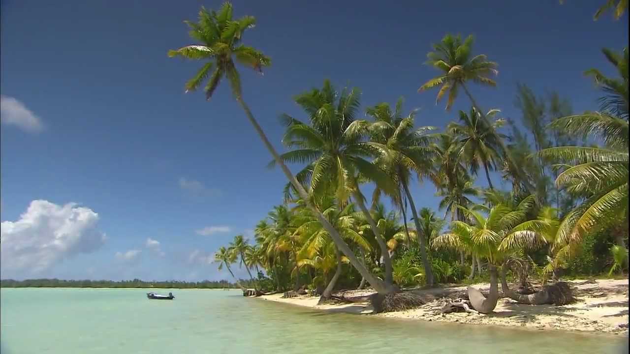
<path fill-rule="evenodd" d="M 379 292 L 379 294 L 390 294 L 392 292 L 395 292 L 396 288 L 392 287 L 391 284 L 384 283 L 382 280 L 370 273 L 370 271 L 367 270 L 365 266 L 361 265 L 361 262 L 352 252 L 352 249 L 350 249 L 348 244 L 343 241 L 339 232 L 335 230 L 335 228 L 328 222 L 328 220 L 326 220 L 326 217 L 321 214 L 321 211 L 319 211 L 319 209 L 312 203 L 311 198 L 309 198 L 309 195 L 304 187 L 295 179 L 289 168 L 287 168 L 287 165 L 284 164 L 284 162 L 280 158 L 280 155 L 278 155 L 278 152 L 275 151 L 273 145 L 269 142 L 269 139 L 267 139 L 265 132 L 263 132 L 263 129 L 256 121 L 256 118 L 254 118 L 254 116 L 251 114 L 251 110 L 249 110 L 249 107 L 246 105 L 245 101 L 243 101 L 243 97 L 238 95 L 236 96 L 236 100 L 241 105 L 241 107 L 243 107 L 243 110 L 245 111 L 245 115 L 247 116 L 249 122 L 251 123 L 251 125 L 253 125 L 256 133 L 258 133 L 260 139 L 263 140 L 263 144 L 265 144 L 266 149 L 272 154 L 273 159 L 275 159 L 276 163 L 282 169 L 282 172 L 284 172 L 285 176 L 287 176 L 291 185 L 293 185 L 295 190 L 297 190 L 297 193 L 300 195 L 302 200 L 307 203 L 308 207 L 311 208 L 312 212 L 318 218 L 321 225 L 324 227 L 324 229 L 326 229 L 331 239 L 333 239 L 333 242 L 335 242 L 337 248 L 340 249 L 340 251 L 348 257 L 348 260 L 350 260 L 350 264 L 352 264 L 352 266 L 355 267 L 357 271 L 361 273 L 363 277 L 365 277 L 365 279 L 367 279 L 372 287 L 374 287 L 374 290 Z"/>

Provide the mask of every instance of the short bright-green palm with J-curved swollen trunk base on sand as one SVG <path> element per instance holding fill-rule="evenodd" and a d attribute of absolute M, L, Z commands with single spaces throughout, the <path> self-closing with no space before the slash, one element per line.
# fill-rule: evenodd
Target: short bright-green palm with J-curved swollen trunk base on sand
<path fill-rule="evenodd" d="M 450 232 L 435 237 L 432 246 L 451 247 L 470 251 L 488 260 L 490 271 L 490 295 L 484 297 L 479 290 L 468 287 L 468 296 L 473 307 L 482 313 L 490 313 L 498 300 L 497 267 L 503 266 L 505 261 L 517 251 L 524 248 L 539 248 L 547 243 L 553 229 L 546 220 L 527 220 L 527 214 L 535 206 L 536 198 L 527 197 L 517 207 L 496 205 L 488 210 L 479 205 L 477 208 L 488 210 L 488 216 L 473 208 L 460 207 L 471 220 L 466 222 L 451 222 Z"/>

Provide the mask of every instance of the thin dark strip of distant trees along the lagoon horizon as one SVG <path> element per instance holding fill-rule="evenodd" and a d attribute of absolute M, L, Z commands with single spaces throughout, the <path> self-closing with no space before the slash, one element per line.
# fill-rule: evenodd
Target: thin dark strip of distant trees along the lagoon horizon
<path fill-rule="evenodd" d="M 241 280 L 244 287 L 248 287 L 249 281 Z M 0 280 L 2 288 L 198 288 L 198 289 L 215 289 L 215 288 L 239 288 L 235 283 L 227 280 L 219 280 L 218 282 L 204 280 L 203 282 L 179 282 L 176 280 L 168 282 L 144 282 L 140 279 L 122 280 L 114 282 L 112 280 L 62 280 L 62 279 L 26 279 Z"/>

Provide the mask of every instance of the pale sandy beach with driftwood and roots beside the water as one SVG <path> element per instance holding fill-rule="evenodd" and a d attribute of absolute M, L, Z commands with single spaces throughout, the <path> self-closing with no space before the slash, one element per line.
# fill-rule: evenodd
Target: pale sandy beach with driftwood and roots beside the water
<path fill-rule="evenodd" d="M 570 283 L 583 282 L 573 280 Z M 488 290 L 489 284 L 476 284 L 482 291 Z M 435 298 L 427 305 L 408 311 L 386 312 L 374 316 L 396 319 L 417 319 L 423 321 L 442 321 L 477 325 L 509 326 L 522 329 L 558 329 L 563 331 L 581 331 L 628 335 L 628 280 L 596 280 L 595 283 L 576 285 L 577 301 L 569 305 L 524 305 L 512 299 L 500 299 L 493 314 L 470 314 L 453 312 L 440 314 L 433 306 L 440 304 Z M 466 290 L 466 287 L 444 287 L 437 290 L 452 290 L 453 294 Z M 415 290 L 418 294 L 430 295 L 435 290 Z M 350 290 L 345 296 L 369 294 L 365 290 Z M 322 311 L 347 312 L 350 314 L 370 314 L 372 308 L 367 302 L 354 304 L 318 305 L 319 297 L 301 295 L 283 299 L 282 294 L 265 295 L 258 299 L 300 305 Z"/>

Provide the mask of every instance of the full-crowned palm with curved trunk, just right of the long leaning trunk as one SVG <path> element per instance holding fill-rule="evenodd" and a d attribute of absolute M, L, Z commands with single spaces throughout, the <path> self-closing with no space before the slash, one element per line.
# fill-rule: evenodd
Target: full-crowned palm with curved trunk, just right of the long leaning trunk
<path fill-rule="evenodd" d="M 283 142 L 294 150 L 280 158 L 289 163 L 307 163 L 296 176 L 301 183 L 309 183 L 312 195 L 321 196 L 333 190 L 340 203 L 347 202 L 352 195 L 376 236 L 385 263 L 385 283 L 391 285 L 392 267 L 387 245 L 365 207 L 365 197 L 358 187 L 360 180 L 371 180 L 383 190 L 390 190 L 386 174 L 366 159 L 375 157 L 378 151 L 365 141 L 368 123 L 355 120 L 359 96 L 357 88 L 344 89 L 338 94 L 328 80 L 324 81 L 322 89 L 299 94 L 295 102 L 309 115 L 309 124 L 286 114 L 281 116 L 287 125 Z M 273 164 L 275 161 L 270 166 Z"/>

